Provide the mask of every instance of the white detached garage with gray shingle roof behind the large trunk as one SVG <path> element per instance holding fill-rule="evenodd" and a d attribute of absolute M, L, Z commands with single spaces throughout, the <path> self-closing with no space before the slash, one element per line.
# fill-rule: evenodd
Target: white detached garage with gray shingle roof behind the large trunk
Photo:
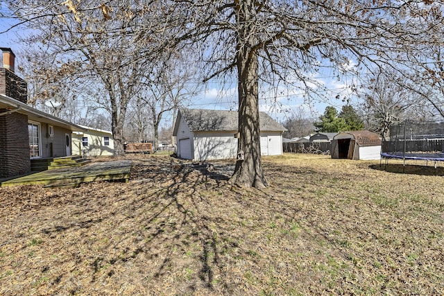
<path fill-rule="evenodd" d="M 203 161 L 237 157 L 237 111 L 181 109 L 174 125 L 178 157 Z M 259 114 L 262 155 L 282 155 L 285 128 L 264 112 Z"/>

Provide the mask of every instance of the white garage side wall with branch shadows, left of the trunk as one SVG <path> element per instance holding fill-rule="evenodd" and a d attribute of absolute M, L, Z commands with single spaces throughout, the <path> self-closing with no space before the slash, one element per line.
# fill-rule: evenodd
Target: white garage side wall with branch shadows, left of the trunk
<path fill-rule="evenodd" d="M 194 137 L 194 159 L 229 159 L 237 156 L 234 132 L 198 133 Z"/>

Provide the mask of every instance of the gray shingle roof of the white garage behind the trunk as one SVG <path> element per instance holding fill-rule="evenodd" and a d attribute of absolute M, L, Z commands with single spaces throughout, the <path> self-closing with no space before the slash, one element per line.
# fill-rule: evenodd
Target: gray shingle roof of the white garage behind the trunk
<path fill-rule="evenodd" d="M 180 109 L 180 114 L 193 132 L 238 130 L 239 118 L 237 111 Z M 283 132 L 285 128 L 265 112 L 259 112 L 259 130 Z"/>

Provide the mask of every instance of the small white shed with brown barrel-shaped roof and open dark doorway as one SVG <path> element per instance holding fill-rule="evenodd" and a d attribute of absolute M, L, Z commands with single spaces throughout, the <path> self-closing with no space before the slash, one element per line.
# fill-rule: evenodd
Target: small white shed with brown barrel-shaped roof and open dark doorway
<path fill-rule="evenodd" d="M 380 159 L 381 139 L 375 132 L 358 130 L 340 132 L 331 141 L 332 158 L 340 159 Z"/>

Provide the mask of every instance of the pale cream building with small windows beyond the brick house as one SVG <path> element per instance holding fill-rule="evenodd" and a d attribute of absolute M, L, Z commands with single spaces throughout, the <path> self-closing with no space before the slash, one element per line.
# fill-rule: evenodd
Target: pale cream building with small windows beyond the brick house
<path fill-rule="evenodd" d="M 84 131 L 72 133 L 72 154 L 87 156 L 114 155 L 112 132 L 79 125 Z"/>

